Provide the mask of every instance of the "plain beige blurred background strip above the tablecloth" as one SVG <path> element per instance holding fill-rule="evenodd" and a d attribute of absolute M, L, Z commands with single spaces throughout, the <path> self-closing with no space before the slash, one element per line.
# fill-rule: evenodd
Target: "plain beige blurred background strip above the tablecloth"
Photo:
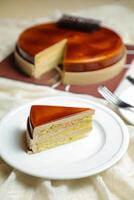
<path fill-rule="evenodd" d="M 31 19 L 111 4 L 134 11 L 134 0 L 0 0 L 0 18 Z"/>

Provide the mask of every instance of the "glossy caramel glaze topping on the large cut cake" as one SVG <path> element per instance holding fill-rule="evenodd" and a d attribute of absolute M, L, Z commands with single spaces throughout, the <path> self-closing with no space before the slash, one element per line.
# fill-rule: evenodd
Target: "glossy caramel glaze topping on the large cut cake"
<path fill-rule="evenodd" d="M 121 38 L 100 27 L 93 32 L 61 28 L 57 23 L 31 27 L 20 35 L 18 49 L 23 58 L 34 63 L 34 56 L 45 48 L 67 39 L 65 71 L 93 71 L 118 62 L 125 54 Z"/>

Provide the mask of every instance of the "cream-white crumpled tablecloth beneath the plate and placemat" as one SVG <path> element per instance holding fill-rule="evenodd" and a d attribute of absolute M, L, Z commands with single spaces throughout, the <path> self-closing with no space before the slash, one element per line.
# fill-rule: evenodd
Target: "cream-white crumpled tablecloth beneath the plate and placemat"
<path fill-rule="evenodd" d="M 58 11 L 51 19 L 59 16 Z M 116 5 L 105 5 L 76 14 L 100 18 L 103 23 L 121 34 L 125 42 L 134 43 L 134 14 L 131 10 Z M 48 18 L 50 19 L 50 18 Z M 0 20 L 0 60 L 14 48 L 18 34 L 36 22 Z M 133 68 L 131 70 L 133 71 Z M 134 74 L 134 73 L 133 73 Z M 129 86 L 124 81 L 117 92 Z M 37 98 L 51 95 L 73 95 L 49 87 L 35 86 L 5 78 L 0 78 L 0 118 L 8 111 Z M 83 95 L 83 98 L 105 103 L 100 99 Z M 130 144 L 123 158 L 101 174 L 79 180 L 45 180 L 24 175 L 0 160 L 1 200 L 133 200 L 134 199 L 134 127 L 128 126 Z"/>

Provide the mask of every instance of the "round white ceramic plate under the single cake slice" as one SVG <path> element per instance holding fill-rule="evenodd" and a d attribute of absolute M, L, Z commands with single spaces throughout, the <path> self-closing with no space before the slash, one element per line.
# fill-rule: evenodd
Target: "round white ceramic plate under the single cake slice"
<path fill-rule="evenodd" d="M 26 174 L 49 179 L 75 179 L 99 173 L 114 165 L 128 147 L 123 121 L 108 108 L 76 97 L 49 97 L 32 104 L 95 108 L 93 130 L 88 137 L 29 155 L 24 148 L 26 120 L 31 104 L 9 113 L 0 123 L 0 155 Z"/>

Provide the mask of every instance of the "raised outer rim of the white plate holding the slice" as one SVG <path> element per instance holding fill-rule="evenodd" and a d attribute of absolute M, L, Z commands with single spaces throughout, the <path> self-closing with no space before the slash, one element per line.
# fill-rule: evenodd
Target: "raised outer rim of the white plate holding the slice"
<path fill-rule="evenodd" d="M 87 99 L 87 98 L 84 98 L 84 97 L 77 97 L 77 96 L 61 96 L 61 95 L 55 95 L 55 96 L 49 96 L 49 97 L 44 97 L 44 98 L 39 98 L 39 99 L 36 99 L 34 101 L 31 101 L 29 103 L 26 103 L 26 104 L 23 104 L 21 106 L 18 106 L 16 107 L 15 109 L 9 111 L 1 120 L 0 120 L 0 128 L 1 128 L 1 124 L 3 123 L 3 121 L 6 120 L 6 118 L 8 118 L 10 115 L 18 112 L 19 110 L 23 110 L 24 108 L 26 107 L 30 107 L 31 105 L 35 104 L 35 103 L 38 103 L 38 102 L 42 102 L 43 100 L 46 100 L 46 99 L 52 99 L 52 98 L 69 98 L 69 99 L 78 99 L 80 101 L 84 101 L 85 103 L 89 103 L 89 104 L 93 104 L 93 105 L 96 105 L 98 106 L 100 109 L 103 109 L 105 110 L 108 114 L 110 113 L 110 115 L 112 115 L 115 119 L 116 119 L 116 122 L 118 121 L 118 124 L 120 125 L 120 127 L 122 128 L 123 130 L 123 136 L 125 136 L 125 142 L 122 146 L 122 150 L 119 150 L 118 153 L 116 154 L 116 156 L 114 156 L 114 158 L 112 159 L 112 162 L 111 161 L 108 161 L 108 166 L 105 166 L 105 163 L 103 165 L 101 165 L 101 169 L 100 170 L 97 170 L 96 172 L 94 173 L 89 173 L 89 172 L 82 172 L 82 174 L 80 175 L 71 175 L 71 176 L 47 176 L 47 175 L 44 175 L 44 176 L 39 176 L 39 175 L 35 175 L 33 174 L 32 172 L 26 172 L 25 170 L 22 170 L 20 169 L 19 167 L 16 167 L 14 166 L 13 164 L 11 164 L 10 162 L 8 162 L 8 160 L 6 160 L 5 158 L 3 158 L 2 154 L 1 154 L 1 147 L 0 147 L 0 157 L 11 167 L 13 167 L 14 169 L 17 169 L 19 170 L 20 172 L 24 173 L 24 174 L 28 174 L 28 175 L 31 175 L 33 177 L 40 177 L 40 178 L 46 178 L 46 179 L 53 179 L 53 180 L 70 180 L 70 179 L 79 179 L 79 178 L 84 178 L 84 177 L 88 177 L 88 176 L 91 176 L 91 175 L 96 175 L 110 167 L 112 167 L 116 162 L 118 162 L 121 157 L 124 155 L 124 153 L 127 151 L 127 148 L 128 148 L 128 145 L 129 145 L 129 132 L 128 132 L 128 129 L 127 129 L 127 126 L 125 125 L 125 123 L 123 122 L 123 120 L 117 115 L 117 113 L 115 113 L 114 111 L 112 111 L 110 108 L 106 107 L 105 105 L 101 104 L 101 103 L 98 103 L 98 102 L 95 102 L 93 101 L 92 99 Z"/>

